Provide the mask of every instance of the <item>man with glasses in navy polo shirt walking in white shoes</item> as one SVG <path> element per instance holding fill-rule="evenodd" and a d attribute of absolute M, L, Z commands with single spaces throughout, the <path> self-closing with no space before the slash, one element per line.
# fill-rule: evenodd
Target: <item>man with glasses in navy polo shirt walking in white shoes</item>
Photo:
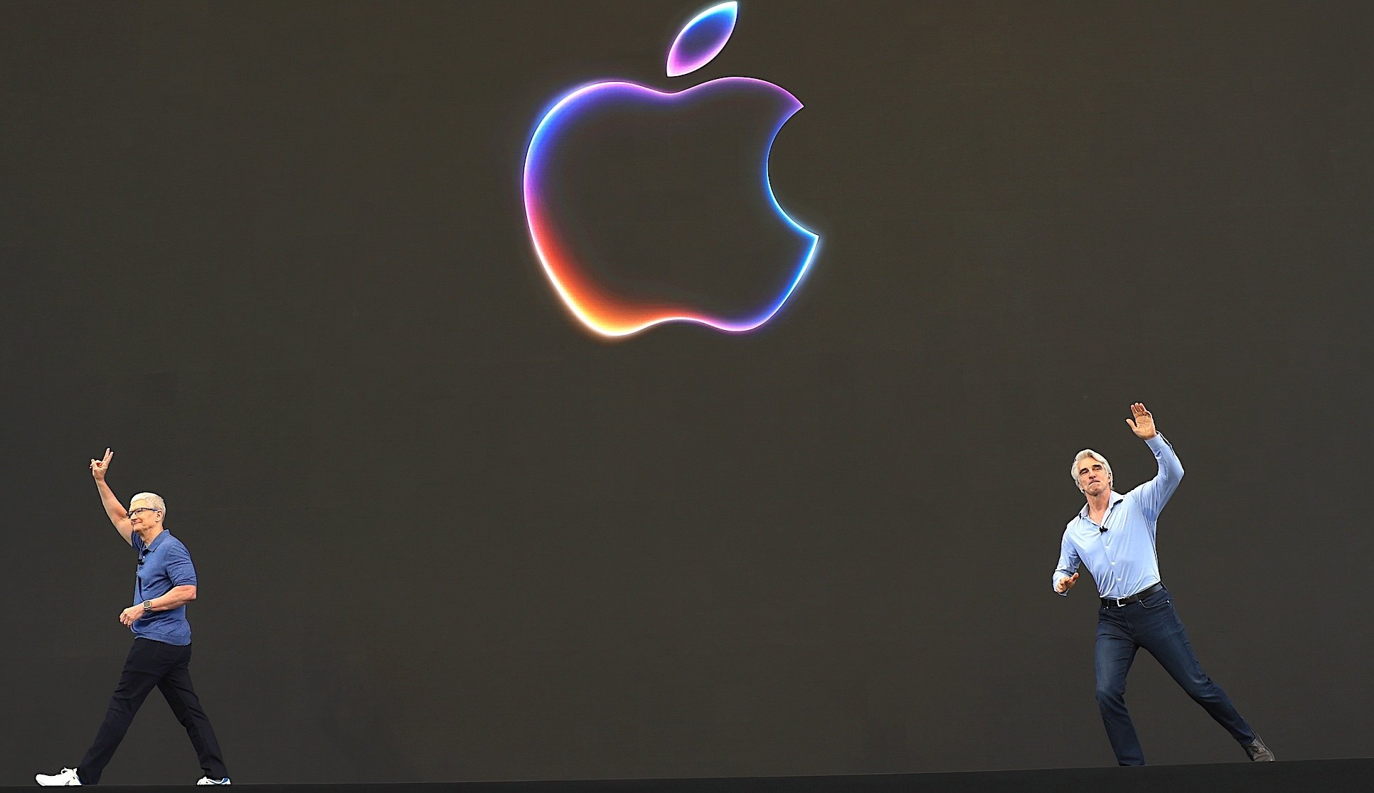
<path fill-rule="evenodd" d="M 124 541 L 139 554 L 133 605 L 120 613 L 120 624 L 133 631 L 133 647 L 124 661 L 120 684 L 110 697 L 104 722 L 95 742 L 76 768 L 59 774 L 38 774 L 38 785 L 95 785 L 114 757 L 120 741 L 133 723 L 143 700 L 157 687 L 172 713 L 185 727 L 201 760 L 205 777 L 196 785 L 228 785 L 229 772 L 220 755 L 220 744 L 201 700 L 191 686 L 191 624 L 185 605 L 195 599 L 195 566 L 185 546 L 164 526 L 166 503 L 157 493 L 139 493 L 125 510 L 104 481 L 114 452 L 104 449 L 104 459 L 91 460 L 91 476 L 100 492 L 100 503 Z"/>

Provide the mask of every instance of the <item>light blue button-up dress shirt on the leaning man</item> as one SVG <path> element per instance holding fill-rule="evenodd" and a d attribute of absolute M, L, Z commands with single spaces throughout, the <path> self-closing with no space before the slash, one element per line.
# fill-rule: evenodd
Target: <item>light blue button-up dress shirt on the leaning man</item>
<path fill-rule="evenodd" d="M 1088 566 L 1103 598 L 1128 598 L 1160 583 L 1160 558 L 1154 551 L 1156 521 L 1179 488 L 1183 463 L 1162 434 L 1156 433 L 1145 444 L 1154 452 L 1160 473 L 1124 496 L 1112 491 L 1101 525 L 1088 520 L 1088 506 L 1083 504 L 1083 510 L 1063 529 L 1059 565 L 1051 580 L 1054 587 L 1061 579 L 1072 576 L 1079 562 Z"/>

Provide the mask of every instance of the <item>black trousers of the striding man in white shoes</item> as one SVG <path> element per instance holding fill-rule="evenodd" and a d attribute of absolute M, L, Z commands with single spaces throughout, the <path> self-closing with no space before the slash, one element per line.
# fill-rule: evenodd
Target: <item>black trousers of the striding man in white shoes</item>
<path fill-rule="evenodd" d="M 110 697 L 110 708 L 104 712 L 104 722 L 95 734 L 95 742 L 87 750 L 81 764 L 77 766 L 77 777 L 82 785 L 96 785 L 100 774 L 114 757 L 114 750 L 124 741 L 124 734 L 133 723 L 133 715 L 139 712 L 143 700 L 157 687 L 162 691 L 176 720 L 185 727 L 185 734 L 195 746 L 195 753 L 201 759 L 201 770 L 210 779 L 223 779 L 229 775 L 224 767 L 224 757 L 220 755 L 220 742 L 214 739 L 214 728 L 210 719 L 201 709 L 201 700 L 191 687 L 191 646 L 168 645 L 153 639 L 135 639 L 129 649 L 129 657 L 124 660 L 124 673 L 120 675 L 120 684 Z"/>

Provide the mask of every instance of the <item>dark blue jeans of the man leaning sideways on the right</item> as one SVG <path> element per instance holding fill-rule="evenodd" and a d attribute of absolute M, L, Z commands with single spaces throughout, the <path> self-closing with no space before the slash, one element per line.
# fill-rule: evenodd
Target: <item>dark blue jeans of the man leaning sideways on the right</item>
<path fill-rule="evenodd" d="M 1193 645 L 1183 623 L 1173 612 L 1168 590 L 1125 606 L 1102 606 L 1098 610 L 1096 676 L 1098 709 L 1107 728 L 1112 750 L 1121 766 L 1145 766 L 1140 739 L 1135 737 L 1131 713 L 1125 709 L 1125 673 L 1131 671 L 1135 651 L 1145 647 L 1189 697 L 1226 727 L 1241 744 L 1254 741 L 1254 733 L 1235 712 L 1235 705 L 1208 678 L 1193 654 Z"/>

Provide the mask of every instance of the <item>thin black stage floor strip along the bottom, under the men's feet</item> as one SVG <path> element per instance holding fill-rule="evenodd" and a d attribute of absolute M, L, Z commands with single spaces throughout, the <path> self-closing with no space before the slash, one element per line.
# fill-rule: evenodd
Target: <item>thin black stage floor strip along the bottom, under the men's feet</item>
<path fill-rule="evenodd" d="M 1278 793 L 1292 790 L 1362 790 L 1374 778 L 1374 759 L 1296 760 L 1150 766 L 1145 768 L 1039 768 L 1033 771 L 969 771 L 958 774 L 874 774 L 851 777 L 739 777 L 719 779 L 585 779 L 543 782 L 397 782 L 390 785 L 250 785 L 262 793 L 345 790 L 348 793 L 1022 793 L 1026 790 L 1110 790 L 1146 793 L 1205 790 L 1206 793 Z M 247 783 L 245 779 L 240 785 Z M 0 790 L 32 790 L 0 788 Z M 155 790 L 153 786 L 102 785 L 102 790 Z"/>

